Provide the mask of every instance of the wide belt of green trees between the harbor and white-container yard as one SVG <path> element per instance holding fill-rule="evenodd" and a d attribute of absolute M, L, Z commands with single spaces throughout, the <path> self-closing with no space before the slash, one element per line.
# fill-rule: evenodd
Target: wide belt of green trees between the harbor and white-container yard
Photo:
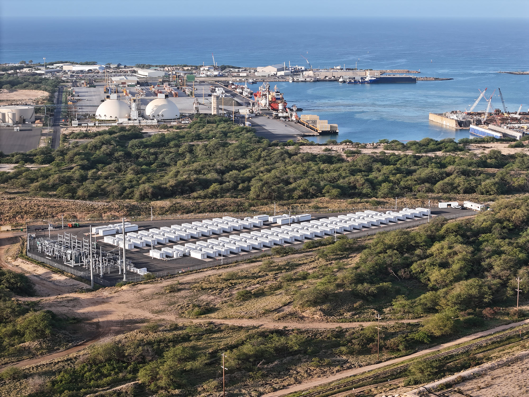
<path fill-rule="evenodd" d="M 461 143 L 425 138 L 408 142 L 416 153 L 444 150 L 443 156 L 413 154 L 311 154 L 299 146 L 258 138 L 246 127 L 222 118 L 201 117 L 188 128 L 143 138 L 137 127 L 77 132 L 90 138 L 52 151 L 39 148 L 2 156 L 21 164 L 0 172 L 3 187 L 62 198 L 221 198 L 253 202 L 329 198 L 395 197 L 426 193 L 497 195 L 529 189 L 529 156 L 491 150 L 475 157 Z M 402 142 L 385 145 L 402 148 Z M 354 149 L 354 147 L 352 147 Z M 349 153 L 350 152 L 350 153 Z M 453 152 L 454 154 L 448 154 Z M 50 164 L 29 170 L 22 163 Z"/>

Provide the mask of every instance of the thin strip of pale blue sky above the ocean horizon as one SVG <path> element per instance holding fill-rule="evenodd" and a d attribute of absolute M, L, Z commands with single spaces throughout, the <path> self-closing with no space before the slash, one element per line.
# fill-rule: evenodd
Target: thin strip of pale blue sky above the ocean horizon
<path fill-rule="evenodd" d="M 529 0 L 0 0 L 2 18 L 17 16 L 300 16 L 527 17 Z M 220 20 L 228 23 L 229 20 Z M 232 21 L 233 22 L 233 21 Z M 257 22 L 257 21 L 256 21 Z M 326 20 L 325 23 L 332 23 Z M 476 26 L 474 26 L 476 28 Z M 472 28 L 473 29 L 473 28 Z"/>

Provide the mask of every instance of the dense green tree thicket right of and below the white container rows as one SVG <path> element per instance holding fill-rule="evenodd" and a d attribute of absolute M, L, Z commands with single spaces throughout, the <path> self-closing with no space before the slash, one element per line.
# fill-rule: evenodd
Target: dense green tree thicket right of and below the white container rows
<path fill-rule="evenodd" d="M 306 278 L 316 279 L 296 292 L 300 307 L 323 306 L 329 313 L 357 311 L 362 305 L 386 318 L 431 316 L 423 340 L 477 326 L 500 313 L 525 315 L 516 305 L 529 296 L 529 199 L 499 201 L 494 211 L 448 222 L 435 218 L 416 230 L 377 233 L 352 266 L 337 260 Z M 309 242 L 307 244 L 312 244 Z M 338 245 L 338 246 L 337 246 Z M 310 247 L 309 247 L 310 248 Z M 320 257 L 346 258 L 350 240 L 320 248 Z M 370 303 L 371 302 L 371 303 Z M 509 307 L 510 306 L 510 307 Z"/>

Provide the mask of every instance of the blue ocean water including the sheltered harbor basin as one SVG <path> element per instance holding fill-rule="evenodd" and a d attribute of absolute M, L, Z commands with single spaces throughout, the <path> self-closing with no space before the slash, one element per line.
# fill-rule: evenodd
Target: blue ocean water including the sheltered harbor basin
<path fill-rule="evenodd" d="M 0 23 L 0 62 L 94 60 L 125 65 L 211 64 L 421 70 L 418 76 L 453 80 L 416 84 L 278 83 L 289 104 L 339 125 L 339 141 L 468 137 L 428 121 L 428 113 L 464 110 L 488 87 L 501 108 L 529 108 L 527 19 L 296 19 L 142 18 Z M 257 89 L 253 85 L 252 89 Z M 484 110 L 481 101 L 477 110 Z M 325 141 L 329 136 L 318 137 Z"/>

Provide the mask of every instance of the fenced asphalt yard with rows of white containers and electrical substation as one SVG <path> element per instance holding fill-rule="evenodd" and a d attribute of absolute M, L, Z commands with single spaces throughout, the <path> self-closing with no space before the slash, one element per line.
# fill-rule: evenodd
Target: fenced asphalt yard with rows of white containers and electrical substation
<path fill-rule="evenodd" d="M 358 238 L 415 227 L 435 216 L 457 218 L 474 211 L 479 209 L 443 207 L 431 211 L 419 207 L 329 216 L 263 214 L 244 219 L 223 216 L 180 222 L 132 223 L 123 219 L 91 228 L 83 225 L 75 232 L 68 227 L 63 229 L 61 224 L 33 225 L 28 227 L 28 255 L 88 279 L 92 266 L 95 282 L 108 286 L 123 280 L 139 281 L 147 273 L 176 274 L 245 260 L 270 254 L 277 246 L 297 249 L 306 241 L 329 236 Z"/>

